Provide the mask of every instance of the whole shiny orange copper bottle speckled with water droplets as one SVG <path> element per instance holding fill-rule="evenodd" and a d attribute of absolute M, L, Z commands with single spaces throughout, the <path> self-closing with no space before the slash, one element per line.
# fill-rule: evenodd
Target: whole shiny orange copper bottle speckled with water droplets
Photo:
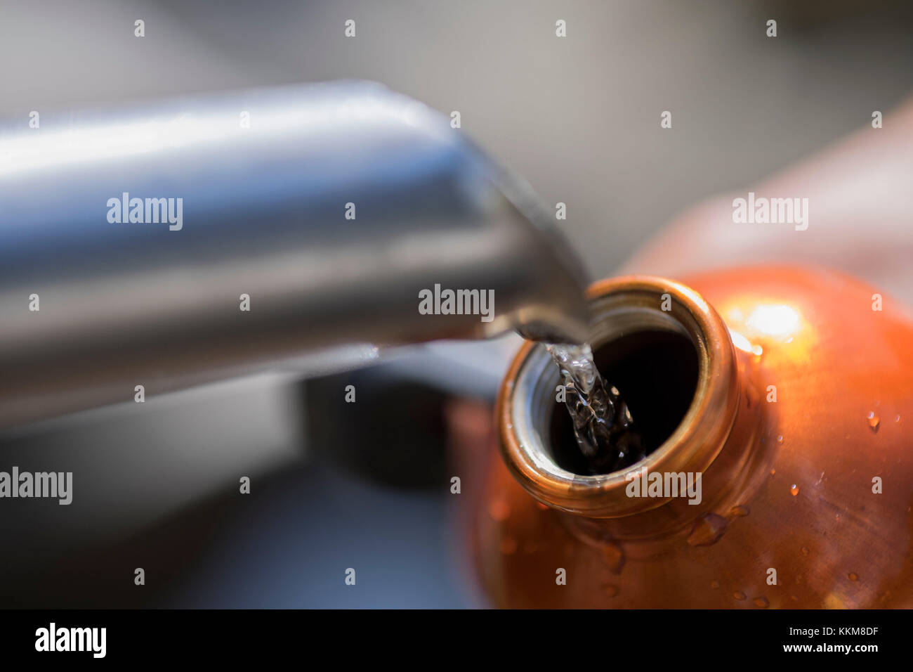
<path fill-rule="evenodd" d="M 876 289 L 832 272 L 685 283 L 591 289 L 600 369 L 644 379 L 624 398 L 658 442 L 622 471 L 574 462 L 544 348 L 514 361 L 472 530 L 492 602 L 913 606 L 913 318 L 897 303 L 873 310 Z M 699 474 L 699 501 L 629 496 L 625 476 L 644 468 Z"/>

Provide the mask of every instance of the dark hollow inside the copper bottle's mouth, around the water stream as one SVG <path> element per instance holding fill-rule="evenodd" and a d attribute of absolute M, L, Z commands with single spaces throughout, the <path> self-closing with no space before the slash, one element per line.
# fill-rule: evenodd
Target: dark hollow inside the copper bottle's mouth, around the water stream
<path fill-rule="evenodd" d="M 653 453 L 676 431 L 694 400 L 698 350 L 677 331 L 649 329 L 597 346 L 593 355 L 606 384 L 618 389 L 631 411 L 645 453 Z M 589 474 L 571 416 L 560 401 L 552 404 L 549 438 L 555 464 L 572 474 Z"/>

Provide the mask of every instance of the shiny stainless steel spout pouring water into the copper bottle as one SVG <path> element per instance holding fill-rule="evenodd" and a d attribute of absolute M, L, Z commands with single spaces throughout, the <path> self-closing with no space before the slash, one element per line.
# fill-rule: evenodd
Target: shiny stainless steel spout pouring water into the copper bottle
<path fill-rule="evenodd" d="M 373 83 L 3 123 L 0 427 L 139 385 L 306 376 L 359 344 L 578 340 L 587 281 L 550 219 L 446 116 Z M 493 290 L 494 319 L 422 315 L 436 284 Z"/>

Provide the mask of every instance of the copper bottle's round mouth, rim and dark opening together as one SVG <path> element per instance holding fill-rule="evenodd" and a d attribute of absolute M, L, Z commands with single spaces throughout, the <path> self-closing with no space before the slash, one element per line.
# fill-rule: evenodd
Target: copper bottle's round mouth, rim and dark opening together
<path fill-rule="evenodd" d="M 738 409 L 736 357 L 719 315 L 683 284 L 628 276 L 594 283 L 587 298 L 597 368 L 620 390 L 648 454 L 610 474 L 586 474 L 556 400 L 558 368 L 535 343 L 520 349 L 502 384 L 500 446 L 511 473 L 543 504 L 586 517 L 630 516 L 671 498 L 628 496 L 633 473 L 700 475 L 719 454 Z"/>

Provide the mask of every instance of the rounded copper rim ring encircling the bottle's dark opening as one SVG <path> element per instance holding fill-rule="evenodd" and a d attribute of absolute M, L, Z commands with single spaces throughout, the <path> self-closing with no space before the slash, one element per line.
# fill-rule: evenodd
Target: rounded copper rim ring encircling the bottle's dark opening
<path fill-rule="evenodd" d="M 574 474 L 557 464 L 551 450 L 558 368 L 544 346 L 528 342 L 514 357 L 498 394 L 500 449 L 511 474 L 543 504 L 585 517 L 631 516 L 671 499 L 628 496 L 627 485 L 639 470 L 699 477 L 722 450 L 739 407 L 736 355 L 720 316 L 684 284 L 631 275 L 593 283 L 586 296 L 593 349 L 638 330 L 687 336 L 698 355 L 698 381 L 684 418 L 644 460 L 611 474 Z"/>

